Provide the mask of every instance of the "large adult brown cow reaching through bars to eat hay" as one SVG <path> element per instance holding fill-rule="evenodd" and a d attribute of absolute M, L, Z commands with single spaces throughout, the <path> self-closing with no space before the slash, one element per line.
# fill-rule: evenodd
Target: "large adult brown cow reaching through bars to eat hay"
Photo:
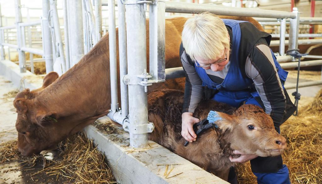
<path fill-rule="evenodd" d="M 186 20 L 183 17 L 166 20 L 166 68 L 181 66 L 179 46 Z M 147 54 L 148 28 L 147 21 Z M 111 102 L 108 43 L 107 34 L 65 74 L 58 78 L 56 73 L 49 73 L 40 89 L 31 92 L 27 89 L 17 94 L 14 100 L 18 112 L 16 129 L 18 149 L 23 155 L 51 149 L 108 113 Z M 184 83 L 184 78 L 167 80 L 153 84 L 149 90 L 183 89 Z"/>

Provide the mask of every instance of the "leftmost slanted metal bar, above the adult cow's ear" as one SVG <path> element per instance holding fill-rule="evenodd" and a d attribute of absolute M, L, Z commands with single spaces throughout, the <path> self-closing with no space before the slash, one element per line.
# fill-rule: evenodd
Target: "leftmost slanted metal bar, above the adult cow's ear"
<path fill-rule="evenodd" d="M 56 43 L 55 45 L 58 47 L 59 50 L 59 56 L 60 61 L 62 62 L 62 72 L 66 72 L 66 60 L 65 60 L 65 53 L 64 53 L 64 48 L 62 44 L 62 35 L 61 35 L 61 30 L 60 30 L 60 25 L 59 25 L 59 18 L 58 18 L 58 12 L 57 12 L 57 1 L 56 0 L 50 0 L 50 6 L 52 10 L 52 22 L 54 24 L 54 31 L 55 31 L 55 38 L 56 38 Z"/>

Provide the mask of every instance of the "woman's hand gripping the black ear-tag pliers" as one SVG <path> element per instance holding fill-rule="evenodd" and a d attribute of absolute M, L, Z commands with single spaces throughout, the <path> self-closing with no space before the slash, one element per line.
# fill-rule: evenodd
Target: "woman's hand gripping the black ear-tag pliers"
<path fill-rule="evenodd" d="M 194 133 L 193 125 L 198 123 L 199 121 L 200 120 L 198 118 L 193 117 L 192 112 L 182 113 L 181 135 L 185 138 L 185 140 L 189 142 L 196 140 L 197 135 Z"/>

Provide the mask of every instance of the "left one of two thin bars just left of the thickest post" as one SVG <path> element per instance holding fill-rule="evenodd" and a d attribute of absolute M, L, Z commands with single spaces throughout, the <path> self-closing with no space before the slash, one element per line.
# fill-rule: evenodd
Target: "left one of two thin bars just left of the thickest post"
<path fill-rule="evenodd" d="M 114 0 L 109 0 L 109 69 L 111 76 L 111 110 L 115 112 L 118 111 L 118 75 Z"/>

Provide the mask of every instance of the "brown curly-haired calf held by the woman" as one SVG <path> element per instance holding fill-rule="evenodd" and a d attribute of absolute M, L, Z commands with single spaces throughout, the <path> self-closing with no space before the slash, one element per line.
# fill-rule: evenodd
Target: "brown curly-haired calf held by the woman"
<path fill-rule="evenodd" d="M 262 157 L 280 155 L 286 148 L 286 139 L 280 136 L 272 118 L 256 105 L 243 105 L 237 110 L 216 101 L 202 101 L 194 116 L 207 117 L 210 110 L 218 112 L 222 120 L 198 136 L 195 142 L 184 146 L 181 136 L 181 111 L 184 93 L 178 90 L 154 91 L 148 95 L 148 117 L 155 130 L 149 139 L 195 163 L 208 172 L 227 180 L 233 163 L 233 150 Z"/>

